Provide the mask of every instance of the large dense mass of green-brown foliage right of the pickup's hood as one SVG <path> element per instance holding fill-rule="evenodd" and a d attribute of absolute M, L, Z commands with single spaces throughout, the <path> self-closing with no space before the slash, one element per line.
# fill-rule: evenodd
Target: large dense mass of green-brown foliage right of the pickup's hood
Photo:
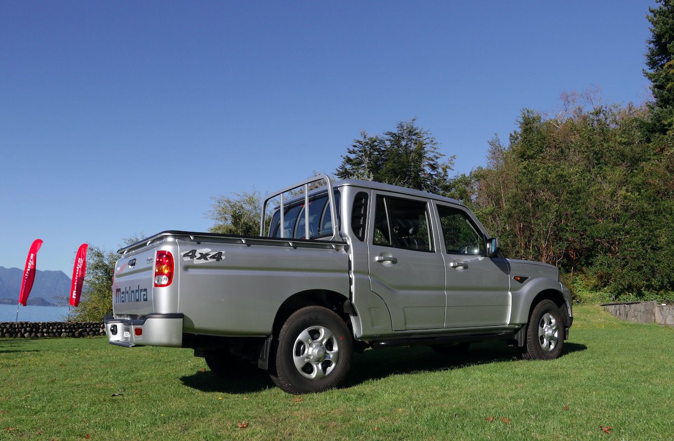
<path fill-rule="evenodd" d="M 492 140 L 487 167 L 454 191 L 507 256 L 580 272 L 613 298 L 671 299 L 674 142 L 648 142 L 648 117 L 632 106 L 552 119 L 525 110 L 509 146 Z"/>

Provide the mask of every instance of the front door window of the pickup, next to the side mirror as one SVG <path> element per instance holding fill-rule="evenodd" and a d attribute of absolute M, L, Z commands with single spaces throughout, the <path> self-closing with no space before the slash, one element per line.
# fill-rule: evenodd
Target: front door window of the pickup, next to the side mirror
<path fill-rule="evenodd" d="M 485 256 L 485 239 L 472 225 L 468 214 L 441 205 L 437 206 L 437 212 L 448 254 Z"/>

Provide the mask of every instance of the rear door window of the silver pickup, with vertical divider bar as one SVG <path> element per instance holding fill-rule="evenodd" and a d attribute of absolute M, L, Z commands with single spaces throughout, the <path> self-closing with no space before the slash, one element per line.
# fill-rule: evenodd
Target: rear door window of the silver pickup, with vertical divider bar
<path fill-rule="evenodd" d="M 433 251 L 425 202 L 377 196 L 374 223 L 373 245 Z"/>

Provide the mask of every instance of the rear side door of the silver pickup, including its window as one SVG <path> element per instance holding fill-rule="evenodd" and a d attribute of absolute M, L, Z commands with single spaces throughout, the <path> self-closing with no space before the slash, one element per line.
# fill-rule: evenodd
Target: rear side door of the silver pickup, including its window
<path fill-rule="evenodd" d="M 441 329 L 445 265 L 422 198 L 375 192 L 369 234 L 370 289 L 384 299 L 393 330 Z"/>

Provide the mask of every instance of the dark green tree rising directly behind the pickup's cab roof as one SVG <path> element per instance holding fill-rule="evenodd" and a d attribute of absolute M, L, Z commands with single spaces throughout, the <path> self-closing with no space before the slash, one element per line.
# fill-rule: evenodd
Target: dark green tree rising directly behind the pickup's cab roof
<path fill-rule="evenodd" d="M 341 179 L 366 179 L 436 194 L 448 191 L 448 173 L 454 156 L 446 160 L 431 133 L 416 125 L 416 118 L 401 121 L 395 131 L 355 138 L 336 169 Z"/>

